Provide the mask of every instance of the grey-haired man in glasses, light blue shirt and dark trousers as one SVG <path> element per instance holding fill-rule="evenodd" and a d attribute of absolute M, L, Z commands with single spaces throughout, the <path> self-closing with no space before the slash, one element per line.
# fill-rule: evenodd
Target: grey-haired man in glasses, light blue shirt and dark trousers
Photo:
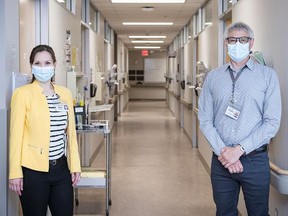
<path fill-rule="evenodd" d="M 217 216 L 238 215 L 240 187 L 248 215 L 269 215 L 267 146 L 280 126 L 281 96 L 276 72 L 250 59 L 253 44 L 248 25 L 228 26 L 230 62 L 208 73 L 199 98 L 200 128 L 213 149 Z"/>

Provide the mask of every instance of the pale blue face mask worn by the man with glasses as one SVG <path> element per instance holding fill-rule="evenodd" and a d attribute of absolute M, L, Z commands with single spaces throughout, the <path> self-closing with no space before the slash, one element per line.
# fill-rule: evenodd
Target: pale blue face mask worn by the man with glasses
<path fill-rule="evenodd" d="M 249 43 L 241 44 L 238 41 L 235 44 L 228 44 L 228 55 L 235 62 L 243 61 L 249 53 Z"/>

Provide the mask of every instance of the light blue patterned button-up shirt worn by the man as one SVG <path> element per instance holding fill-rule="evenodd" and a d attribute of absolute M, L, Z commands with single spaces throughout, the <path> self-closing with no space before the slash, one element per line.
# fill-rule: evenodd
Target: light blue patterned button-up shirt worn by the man
<path fill-rule="evenodd" d="M 276 72 L 249 59 L 236 81 L 237 120 L 225 115 L 231 105 L 230 64 L 208 73 L 198 101 L 200 129 L 215 154 L 225 146 L 241 144 L 246 153 L 270 142 L 279 129 L 281 95 Z M 236 72 L 233 72 L 234 77 Z"/>

